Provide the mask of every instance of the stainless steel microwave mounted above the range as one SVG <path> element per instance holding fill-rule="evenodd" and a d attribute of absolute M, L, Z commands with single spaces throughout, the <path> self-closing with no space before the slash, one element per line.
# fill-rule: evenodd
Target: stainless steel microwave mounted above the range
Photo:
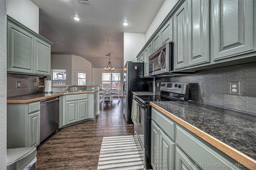
<path fill-rule="evenodd" d="M 148 75 L 159 75 L 173 71 L 173 42 L 167 42 L 148 57 Z"/>

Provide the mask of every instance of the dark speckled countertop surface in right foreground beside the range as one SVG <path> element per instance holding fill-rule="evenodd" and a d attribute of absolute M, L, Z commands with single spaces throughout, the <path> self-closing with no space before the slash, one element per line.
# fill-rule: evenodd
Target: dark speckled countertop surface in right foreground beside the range
<path fill-rule="evenodd" d="M 256 116 L 197 102 L 152 103 L 256 160 Z"/>

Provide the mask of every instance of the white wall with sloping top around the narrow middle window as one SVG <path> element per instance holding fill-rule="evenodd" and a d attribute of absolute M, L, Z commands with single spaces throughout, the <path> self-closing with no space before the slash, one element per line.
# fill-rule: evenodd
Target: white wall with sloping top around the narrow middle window
<path fill-rule="evenodd" d="M 72 55 L 72 85 L 76 83 L 75 70 L 89 71 L 88 82 L 86 84 L 92 84 L 92 63 L 80 56 Z"/>

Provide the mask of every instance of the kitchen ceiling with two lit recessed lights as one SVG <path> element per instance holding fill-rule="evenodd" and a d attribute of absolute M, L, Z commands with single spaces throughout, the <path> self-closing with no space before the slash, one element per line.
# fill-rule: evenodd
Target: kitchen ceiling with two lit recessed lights
<path fill-rule="evenodd" d="M 164 0 L 32 0 L 39 7 L 39 34 L 52 53 L 78 55 L 94 68 L 123 68 L 124 32 L 146 33 Z M 80 22 L 72 17 L 79 16 Z M 129 22 L 122 26 L 122 22 Z M 135 56 L 134 56 L 135 57 Z"/>

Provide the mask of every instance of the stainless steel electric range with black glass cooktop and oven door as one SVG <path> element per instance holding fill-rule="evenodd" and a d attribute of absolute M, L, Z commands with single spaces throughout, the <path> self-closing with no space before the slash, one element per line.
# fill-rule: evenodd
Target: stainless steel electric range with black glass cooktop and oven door
<path fill-rule="evenodd" d="M 150 101 L 188 101 L 188 83 L 162 82 L 160 95 L 134 95 L 133 105 L 136 105 L 138 114 L 138 120 L 133 120 L 134 139 L 137 141 L 144 169 L 152 169 Z"/>

